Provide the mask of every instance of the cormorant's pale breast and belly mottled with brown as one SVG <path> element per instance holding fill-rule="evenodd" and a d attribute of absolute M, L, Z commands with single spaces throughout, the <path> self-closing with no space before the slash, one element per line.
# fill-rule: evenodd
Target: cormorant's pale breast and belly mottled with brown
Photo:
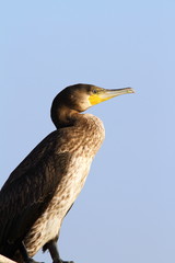
<path fill-rule="evenodd" d="M 69 150 L 71 156 L 51 202 L 24 240 L 30 256 L 58 236 L 62 219 L 81 192 L 92 160 L 104 140 L 102 121 L 90 114 L 82 116 L 81 123 L 74 126 L 72 134 L 69 133 L 71 138 L 59 146 L 59 151 Z"/>

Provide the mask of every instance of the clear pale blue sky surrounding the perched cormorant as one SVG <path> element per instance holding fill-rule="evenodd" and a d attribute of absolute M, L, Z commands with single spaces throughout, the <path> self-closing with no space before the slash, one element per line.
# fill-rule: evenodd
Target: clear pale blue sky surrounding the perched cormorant
<path fill-rule="evenodd" d="M 60 254 L 174 263 L 175 1 L 5 0 L 0 32 L 0 185 L 55 129 L 49 111 L 61 89 L 132 87 L 88 111 L 106 139 L 65 219 Z"/>

